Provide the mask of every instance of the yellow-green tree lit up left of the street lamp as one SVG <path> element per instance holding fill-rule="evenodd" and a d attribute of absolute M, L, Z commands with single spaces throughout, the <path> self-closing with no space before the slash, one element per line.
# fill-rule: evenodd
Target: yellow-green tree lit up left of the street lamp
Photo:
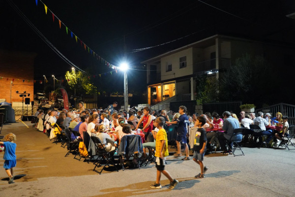
<path fill-rule="evenodd" d="M 82 73 L 81 71 L 74 71 L 72 72 L 66 71 L 65 79 L 71 90 L 76 89 L 77 94 L 93 94 L 97 92 L 97 87 L 94 86 L 91 82 L 89 77 Z"/>

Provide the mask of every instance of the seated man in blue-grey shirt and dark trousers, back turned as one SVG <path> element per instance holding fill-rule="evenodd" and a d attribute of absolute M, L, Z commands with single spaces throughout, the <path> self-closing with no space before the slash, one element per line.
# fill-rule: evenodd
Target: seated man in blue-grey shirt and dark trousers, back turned
<path fill-rule="evenodd" d="M 239 128 L 239 122 L 236 118 L 234 118 L 230 112 L 225 111 L 223 114 L 224 121 L 223 121 L 223 132 L 218 132 L 218 141 L 220 143 L 221 147 L 221 154 L 233 154 L 231 151 L 233 149 L 233 142 L 232 141 L 240 141 L 242 140 L 242 135 L 236 135 L 234 134 L 234 130 Z M 232 140 L 229 145 L 229 150 L 226 149 L 226 141 Z"/>

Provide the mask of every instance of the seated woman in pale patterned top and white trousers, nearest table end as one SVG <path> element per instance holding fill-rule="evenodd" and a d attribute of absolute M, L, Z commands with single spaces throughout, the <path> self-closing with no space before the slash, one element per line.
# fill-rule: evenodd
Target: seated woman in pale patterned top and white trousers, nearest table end
<path fill-rule="evenodd" d="M 116 150 L 117 144 L 115 144 L 115 141 L 113 141 L 109 134 L 104 133 L 106 131 L 106 127 L 103 124 L 96 127 L 96 131 L 96 137 L 99 138 L 107 152 Z M 101 146 L 98 147 L 102 148 Z"/>

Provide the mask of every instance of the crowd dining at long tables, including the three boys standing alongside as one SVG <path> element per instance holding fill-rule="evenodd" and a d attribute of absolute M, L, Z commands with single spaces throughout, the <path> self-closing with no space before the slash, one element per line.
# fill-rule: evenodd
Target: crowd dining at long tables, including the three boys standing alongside
<path fill-rule="evenodd" d="M 285 143 L 283 138 L 288 135 L 288 117 L 282 116 L 279 112 L 272 118 L 269 113 L 264 116 L 262 112 L 259 112 L 256 117 L 255 113 L 246 114 L 242 111 L 238 118 L 235 113 L 228 111 L 222 115 L 216 112 L 190 115 L 185 106 L 180 106 L 178 112 L 152 111 L 150 107 L 140 110 L 133 107 L 129 112 L 116 111 L 117 106 L 118 103 L 114 102 L 105 110 L 90 110 L 85 109 L 83 102 L 80 102 L 78 112 L 62 110 L 59 113 L 56 110 L 49 110 L 44 114 L 40 110 L 38 114 L 35 114 L 39 118 L 37 129 L 44 130 L 43 121 L 56 123 L 62 129 L 69 128 L 78 131 L 82 141 L 85 140 L 83 139 L 84 132 L 87 132 L 89 136 L 99 138 L 107 151 L 114 151 L 125 135 L 140 135 L 143 142 L 143 153 L 140 158 L 134 157 L 132 162 L 137 164 L 138 160 L 147 161 L 147 158 L 152 155 L 151 151 L 155 151 L 157 180 L 150 187 L 161 188 L 159 174 L 163 173 L 171 181 L 172 189 L 176 186 L 177 180 L 173 179 L 164 169 L 165 158 L 168 156 L 167 134 L 172 125 L 177 125 L 177 137 L 174 139 L 177 144 L 177 153 L 174 157 L 181 157 L 184 161 L 190 160 L 189 149 L 193 149 L 193 161 L 200 166 L 200 173 L 195 178 L 204 178 L 207 167 L 204 166 L 203 160 L 208 149 L 214 148 L 215 153 L 220 151 L 222 154 L 233 154 L 233 141 L 242 141 L 243 137 L 242 134 L 234 133 L 237 128 L 250 129 L 250 125 L 258 125 L 261 132 L 253 133 L 250 138 L 244 137 L 243 141 L 248 142 L 247 140 L 250 139 L 253 143 L 264 143 L 266 147 L 269 147 L 268 143 L 273 138 Z M 282 130 L 266 128 L 273 124 L 282 125 Z M 262 140 L 262 136 L 267 136 L 265 141 Z M 157 139 L 160 140 L 157 141 Z M 258 142 L 256 142 L 257 139 L 259 139 Z M 77 139 L 73 136 L 72 140 Z M 148 153 L 146 152 L 147 147 L 149 147 Z M 182 155 L 182 150 L 185 155 Z"/>

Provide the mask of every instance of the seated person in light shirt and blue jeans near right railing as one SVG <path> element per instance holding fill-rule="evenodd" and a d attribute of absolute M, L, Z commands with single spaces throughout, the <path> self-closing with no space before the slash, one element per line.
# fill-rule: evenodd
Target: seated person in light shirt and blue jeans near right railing
<path fill-rule="evenodd" d="M 257 113 L 257 117 L 254 118 L 253 122 L 254 122 L 254 124 L 258 125 L 262 131 L 260 133 L 254 132 L 254 134 L 253 134 L 254 141 L 257 141 L 257 137 L 259 137 L 259 142 L 265 143 L 266 147 L 268 147 L 267 144 L 272 139 L 272 131 L 271 130 L 266 131 L 266 126 L 270 126 L 270 120 L 269 120 L 269 122 L 267 122 L 266 119 L 263 118 L 263 112 L 259 112 L 259 113 Z M 265 142 L 262 141 L 262 136 L 267 136 L 267 139 Z"/>

